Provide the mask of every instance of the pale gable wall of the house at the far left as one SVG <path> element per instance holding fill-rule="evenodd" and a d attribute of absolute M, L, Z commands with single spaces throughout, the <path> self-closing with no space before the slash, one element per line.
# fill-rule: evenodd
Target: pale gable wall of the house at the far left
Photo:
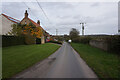
<path fill-rule="evenodd" d="M 0 18 L 1 17 L 2 17 L 2 22 L 0 21 L 0 25 L 2 24 L 2 35 L 5 35 L 12 29 L 11 25 L 14 24 L 14 22 L 8 20 L 3 15 L 0 15 Z"/>

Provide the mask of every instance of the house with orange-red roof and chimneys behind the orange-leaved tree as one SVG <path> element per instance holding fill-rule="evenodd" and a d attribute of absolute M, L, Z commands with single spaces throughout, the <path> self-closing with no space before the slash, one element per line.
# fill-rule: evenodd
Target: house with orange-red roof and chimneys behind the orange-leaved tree
<path fill-rule="evenodd" d="M 21 20 L 20 22 L 21 24 L 27 24 L 29 25 L 30 23 L 32 23 L 34 26 L 36 27 L 40 27 L 43 31 L 43 36 L 41 37 L 41 43 L 44 44 L 45 41 L 47 40 L 48 41 L 48 38 L 50 37 L 49 36 L 49 33 L 47 33 L 41 26 L 40 26 L 40 21 L 38 20 L 37 23 L 34 22 L 33 20 L 31 20 L 30 18 L 28 18 L 28 13 L 27 13 L 27 10 L 25 11 L 25 16 L 24 18 Z"/>

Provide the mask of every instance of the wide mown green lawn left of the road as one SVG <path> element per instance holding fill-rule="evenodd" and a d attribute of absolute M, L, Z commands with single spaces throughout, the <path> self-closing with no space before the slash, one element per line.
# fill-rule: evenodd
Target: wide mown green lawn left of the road
<path fill-rule="evenodd" d="M 60 46 L 46 43 L 42 45 L 19 45 L 2 49 L 2 76 L 9 78 L 54 53 Z"/>

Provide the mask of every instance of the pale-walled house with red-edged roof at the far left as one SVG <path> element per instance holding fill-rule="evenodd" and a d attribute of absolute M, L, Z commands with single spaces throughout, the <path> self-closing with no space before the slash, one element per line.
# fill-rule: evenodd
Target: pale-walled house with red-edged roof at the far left
<path fill-rule="evenodd" d="M 0 19 L 2 19 L 0 22 L 0 25 L 2 25 L 2 30 L 0 30 L 0 31 L 2 31 L 2 34 L 0 34 L 0 35 L 8 34 L 8 32 L 12 29 L 12 27 L 11 27 L 12 24 L 20 23 L 19 20 L 16 20 L 5 14 L 1 14 Z"/>

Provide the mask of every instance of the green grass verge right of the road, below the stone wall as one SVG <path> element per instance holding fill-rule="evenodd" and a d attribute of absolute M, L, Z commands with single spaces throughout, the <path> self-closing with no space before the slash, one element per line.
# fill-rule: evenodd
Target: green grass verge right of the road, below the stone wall
<path fill-rule="evenodd" d="M 80 43 L 71 43 L 86 63 L 95 71 L 99 78 L 120 78 L 119 58 L 98 48 Z"/>

